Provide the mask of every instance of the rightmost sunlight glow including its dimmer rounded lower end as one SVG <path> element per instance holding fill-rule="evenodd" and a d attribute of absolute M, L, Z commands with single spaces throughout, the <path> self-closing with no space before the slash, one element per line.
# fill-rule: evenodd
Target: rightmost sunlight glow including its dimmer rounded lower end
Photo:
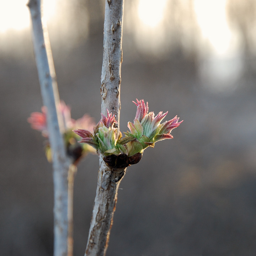
<path fill-rule="evenodd" d="M 194 0 L 194 10 L 203 40 L 213 52 L 199 64 L 201 78 L 213 91 L 230 91 L 242 70 L 238 40 L 226 19 L 226 0 Z M 210 83 L 209 81 L 212 81 Z"/>

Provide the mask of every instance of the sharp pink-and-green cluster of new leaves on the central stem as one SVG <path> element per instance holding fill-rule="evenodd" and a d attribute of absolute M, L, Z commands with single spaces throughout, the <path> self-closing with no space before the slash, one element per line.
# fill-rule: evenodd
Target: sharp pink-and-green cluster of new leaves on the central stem
<path fill-rule="evenodd" d="M 82 139 L 80 142 L 93 146 L 98 153 L 103 156 L 126 155 L 128 157 L 135 154 L 142 154 L 148 146 L 154 147 L 154 143 L 159 140 L 172 139 L 171 130 L 178 127 L 180 123 L 176 116 L 162 124 L 161 121 L 168 112 L 159 112 L 155 116 L 154 112 L 148 112 L 148 102 L 137 100 L 137 113 L 134 122 L 128 122 L 125 137 L 115 128 L 116 119 L 112 113 L 107 111 L 107 117 L 101 114 L 101 120 L 94 127 L 93 133 L 85 129 L 76 129 L 74 132 Z"/>

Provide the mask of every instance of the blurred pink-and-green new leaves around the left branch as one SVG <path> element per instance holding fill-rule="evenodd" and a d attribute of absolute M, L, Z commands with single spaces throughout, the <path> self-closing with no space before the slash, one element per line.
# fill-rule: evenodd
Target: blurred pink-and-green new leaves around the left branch
<path fill-rule="evenodd" d="M 31 116 L 28 118 L 28 122 L 31 124 L 32 129 L 38 130 L 44 137 L 48 138 L 47 108 L 43 106 L 41 110 L 42 112 L 31 113 Z M 78 143 L 80 137 L 73 132 L 73 129 L 86 128 L 87 130 L 92 131 L 95 123 L 87 114 L 77 120 L 71 118 L 70 107 L 66 106 L 64 101 L 60 102 L 58 111 L 62 115 L 64 124 L 66 152 L 70 158 L 72 158 L 73 163 L 76 164 L 78 160 L 87 155 L 87 153 L 95 153 L 96 151 L 88 144 Z M 45 151 L 48 161 L 51 161 L 52 154 L 48 141 L 46 143 Z"/>

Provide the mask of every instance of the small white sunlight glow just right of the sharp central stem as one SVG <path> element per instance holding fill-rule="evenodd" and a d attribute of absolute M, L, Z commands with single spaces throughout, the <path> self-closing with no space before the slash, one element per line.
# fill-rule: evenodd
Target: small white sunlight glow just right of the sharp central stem
<path fill-rule="evenodd" d="M 149 27 L 156 27 L 163 20 L 167 0 L 139 0 L 138 15 Z"/>

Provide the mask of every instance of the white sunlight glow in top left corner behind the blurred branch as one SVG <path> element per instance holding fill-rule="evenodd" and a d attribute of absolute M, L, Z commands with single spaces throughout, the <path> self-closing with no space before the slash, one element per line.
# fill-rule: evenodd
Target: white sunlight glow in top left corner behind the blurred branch
<path fill-rule="evenodd" d="M 30 26 L 30 13 L 26 6 L 28 0 L 2 1 L 0 8 L 0 33 L 10 30 L 21 31 Z M 55 0 L 44 0 L 44 17 L 54 14 Z"/>

